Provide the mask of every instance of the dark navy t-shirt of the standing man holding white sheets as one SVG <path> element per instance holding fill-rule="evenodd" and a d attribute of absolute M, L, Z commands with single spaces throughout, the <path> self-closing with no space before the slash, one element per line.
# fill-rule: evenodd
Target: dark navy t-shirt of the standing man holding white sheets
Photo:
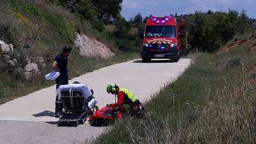
<path fill-rule="evenodd" d="M 60 78 L 68 78 L 68 58 L 59 54 L 54 58 L 54 61 L 57 62 L 57 67 L 60 70 Z"/>

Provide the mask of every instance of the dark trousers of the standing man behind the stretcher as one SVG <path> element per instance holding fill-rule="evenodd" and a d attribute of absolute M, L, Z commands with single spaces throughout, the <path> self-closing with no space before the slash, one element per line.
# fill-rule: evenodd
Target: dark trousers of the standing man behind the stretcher
<path fill-rule="evenodd" d="M 56 78 L 56 89 L 59 88 L 60 85 L 68 84 L 68 77 L 57 77 Z M 58 94 L 56 95 L 56 102 L 55 102 L 55 111 L 61 113 L 63 109 L 62 100 L 58 99 Z"/>

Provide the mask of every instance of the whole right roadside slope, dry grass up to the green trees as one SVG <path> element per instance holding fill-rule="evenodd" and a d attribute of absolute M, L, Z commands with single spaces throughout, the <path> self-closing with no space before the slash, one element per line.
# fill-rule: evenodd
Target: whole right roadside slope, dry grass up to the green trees
<path fill-rule="evenodd" d="M 256 143 L 255 19 L 234 10 L 182 18 L 191 66 L 145 102 L 144 118 L 120 120 L 92 143 Z"/>

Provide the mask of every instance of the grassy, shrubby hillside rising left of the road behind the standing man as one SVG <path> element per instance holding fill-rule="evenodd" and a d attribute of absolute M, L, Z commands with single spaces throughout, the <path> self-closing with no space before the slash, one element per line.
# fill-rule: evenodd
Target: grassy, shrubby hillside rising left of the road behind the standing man
<path fill-rule="evenodd" d="M 119 15 L 120 10 L 115 13 Z M 46 81 L 44 75 L 51 71 L 54 56 L 60 53 L 65 45 L 73 47 L 68 62 L 70 78 L 100 67 L 138 58 L 138 41 L 126 39 L 133 48 L 121 49 L 122 46 L 116 43 L 117 37 L 113 33 L 95 29 L 92 20 L 84 19 L 81 13 L 71 12 L 70 9 L 52 1 L 3 0 L 0 2 L 0 19 L 0 40 L 12 44 L 14 49 L 8 55 L 0 51 L 0 104 L 54 84 Z M 89 36 L 86 38 L 92 39 L 92 42 L 102 42 L 110 49 L 108 52 L 115 53 L 115 56 L 100 58 L 88 56 L 93 54 L 84 54 L 87 51 L 81 52 L 81 49 L 76 47 L 77 33 Z M 38 68 L 33 63 L 36 63 Z M 36 71 L 36 76 L 26 79 L 24 71 L 27 69 Z"/>

